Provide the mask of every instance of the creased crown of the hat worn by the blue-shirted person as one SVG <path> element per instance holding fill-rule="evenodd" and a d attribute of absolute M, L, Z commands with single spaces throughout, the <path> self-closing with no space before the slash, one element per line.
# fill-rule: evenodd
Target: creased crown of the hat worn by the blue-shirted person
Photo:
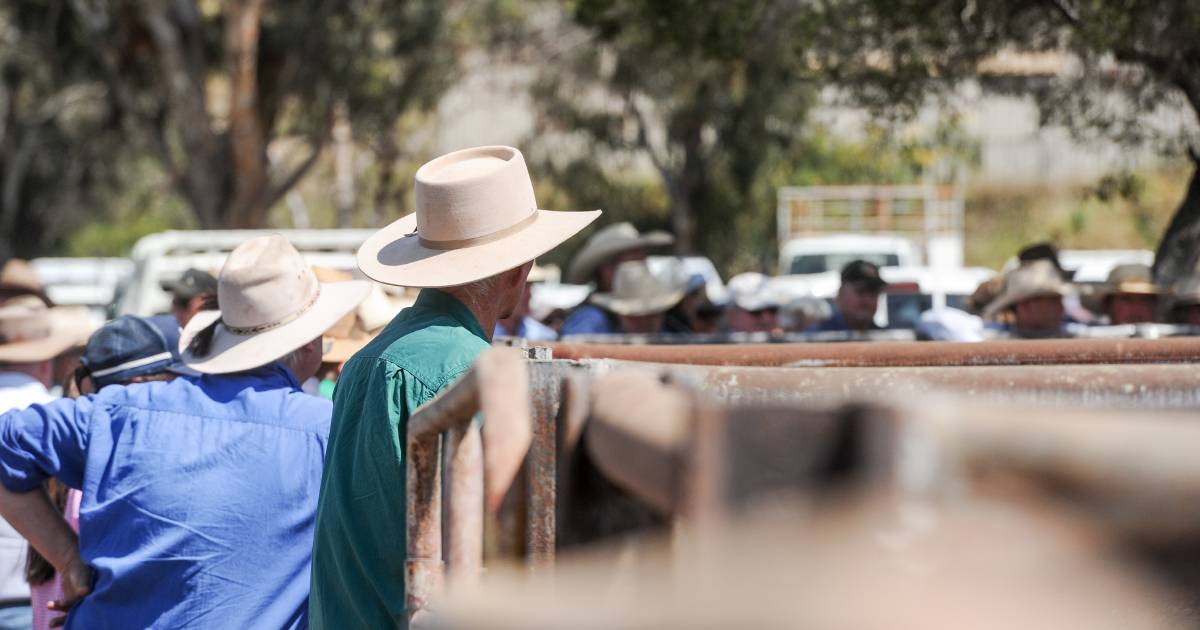
<path fill-rule="evenodd" d="M 312 306 L 319 293 L 317 276 L 280 234 L 239 245 L 217 280 L 221 319 L 238 329 L 283 323 Z"/>

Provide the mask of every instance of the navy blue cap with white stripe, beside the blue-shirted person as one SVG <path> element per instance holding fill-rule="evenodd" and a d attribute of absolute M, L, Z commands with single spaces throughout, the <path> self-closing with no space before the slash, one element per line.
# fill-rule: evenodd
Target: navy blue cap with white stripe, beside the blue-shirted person
<path fill-rule="evenodd" d="M 97 390 L 144 374 L 186 372 L 179 324 L 172 316 L 121 316 L 91 335 L 79 364 Z"/>

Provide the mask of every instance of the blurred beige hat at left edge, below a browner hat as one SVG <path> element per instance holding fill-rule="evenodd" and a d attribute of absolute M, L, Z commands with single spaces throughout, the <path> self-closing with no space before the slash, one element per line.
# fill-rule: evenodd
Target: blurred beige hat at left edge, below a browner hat
<path fill-rule="evenodd" d="M 74 330 L 76 318 L 49 308 L 36 295 L 23 295 L 0 306 L 0 362 L 48 361 L 79 344 L 86 335 Z"/>

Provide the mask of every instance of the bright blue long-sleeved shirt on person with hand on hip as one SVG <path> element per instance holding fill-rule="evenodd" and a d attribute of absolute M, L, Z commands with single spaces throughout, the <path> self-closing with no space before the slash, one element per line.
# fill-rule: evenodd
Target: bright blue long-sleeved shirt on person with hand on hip
<path fill-rule="evenodd" d="M 331 413 L 275 364 L 0 415 L 0 484 L 83 491 L 67 629 L 304 628 Z"/>

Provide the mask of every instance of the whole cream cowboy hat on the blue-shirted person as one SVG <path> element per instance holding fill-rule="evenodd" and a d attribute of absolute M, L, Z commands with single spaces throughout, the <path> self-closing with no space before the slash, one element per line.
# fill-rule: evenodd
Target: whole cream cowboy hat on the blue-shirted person
<path fill-rule="evenodd" d="M 278 234 L 251 239 L 221 268 L 221 310 L 197 313 L 180 336 L 179 352 L 197 372 L 252 370 L 324 335 L 370 290 L 361 280 L 319 282 L 300 252 Z M 211 335 L 211 343 L 198 355 L 190 346 L 202 331 Z"/>

